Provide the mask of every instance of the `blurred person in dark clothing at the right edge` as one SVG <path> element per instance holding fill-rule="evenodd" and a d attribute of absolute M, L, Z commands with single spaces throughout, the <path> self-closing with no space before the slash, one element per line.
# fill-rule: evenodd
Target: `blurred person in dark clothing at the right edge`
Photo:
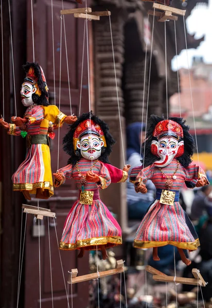
<path fill-rule="evenodd" d="M 208 206 L 208 199 L 210 192 L 212 191 L 212 186 L 203 186 L 197 190 L 195 198 L 193 199 L 191 205 L 190 218 L 192 221 L 199 220 L 201 216 L 205 214 Z"/>

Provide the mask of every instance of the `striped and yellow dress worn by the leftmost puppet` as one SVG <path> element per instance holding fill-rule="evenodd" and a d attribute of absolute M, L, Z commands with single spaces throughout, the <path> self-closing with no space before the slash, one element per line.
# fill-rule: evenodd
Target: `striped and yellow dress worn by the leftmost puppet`
<path fill-rule="evenodd" d="M 57 123 L 59 114 L 61 112 L 55 105 L 28 107 L 24 114 L 24 118 L 28 118 L 26 138 L 29 140 L 33 135 L 47 135 L 49 121 Z M 20 136 L 20 128 L 16 126 L 12 134 Z M 47 189 L 49 196 L 54 195 L 48 144 L 32 144 L 27 148 L 26 158 L 13 174 L 12 182 L 13 190 L 28 190 L 30 194 L 36 194 L 36 189 L 41 188 L 43 191 Z"/>

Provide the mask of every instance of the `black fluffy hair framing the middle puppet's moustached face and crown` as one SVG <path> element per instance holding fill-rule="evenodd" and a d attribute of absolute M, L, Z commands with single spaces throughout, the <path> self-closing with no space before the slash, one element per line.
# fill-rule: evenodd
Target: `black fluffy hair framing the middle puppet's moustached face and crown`
<path fill-rule="evenodd" d="M 63 150 L 70 156 L 70 158 L 68 159 L 68 164 L 73 164 L 75 166 L 76 163 L 81 158 L 80 150 L 77 150 L 79 155 L 76 155 L 76 152 L 74 150 L 73 137 L 75 129 L 81 122 L 90 119 L 101 127 L 104 133 L 105 141 L 107 143 L 107 147 L 102 147 L 101 156 L 99 157 L 99 160 L 102 161 L 103 163 L 110 164 L 109 156 L 110 153 L 112 152 L 112 146 L 115 144 L 115 140 L 113 139 L 113 137 L 109 132 L 108 125 L 104 121 L 100 120 L 96 115 L 94 115 L 92 111 L 91 113 L 90 112 L 83 113 L 82 115 L 80 115 L 80 117 L 78 117 L 78 120 L 74 124 L 69 125 L 70 129 L 63 138 Z"/>

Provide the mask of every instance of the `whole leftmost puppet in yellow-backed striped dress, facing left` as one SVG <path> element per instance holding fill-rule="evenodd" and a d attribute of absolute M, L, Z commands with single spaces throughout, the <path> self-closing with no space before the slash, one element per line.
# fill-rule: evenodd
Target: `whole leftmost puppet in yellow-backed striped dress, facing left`
<path fill-rule="evenodd" d="M 23 69 L 26 78 L 21 87 L 21 99 L 27 107 L 24 117 L 12 117 L 13 124 L 1 119 L 0 124 L 8 134 L 27 138 L 26 159 L 12 176 L 13 190 L 22 191 L 28 200 L 31 200 L 30 194 L 48 199 L 54 194 L 48 138 L 54 138 L 54 128 L 64 122 L 72 124 L 77 117 L 67 117 L 57 106 L 49 105 L 45 76 L 38 63 L 27 62 Z"/>

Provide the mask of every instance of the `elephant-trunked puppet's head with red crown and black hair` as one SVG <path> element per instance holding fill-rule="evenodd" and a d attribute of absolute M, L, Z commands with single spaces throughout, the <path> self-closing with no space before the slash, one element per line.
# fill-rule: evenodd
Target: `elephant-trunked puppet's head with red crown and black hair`
<path fill-rule="evenodd" d="M 176 158 L 184 167 L 191 162 L 195 142 L 182 118 L 164 118 L 151 115 L 146 136 L 145 167 L 154 164 L 165 167 Z M 143 144 L 144 150 L 144 144 Z M 158 160 L 160 158 L 160 160 Z"/>

